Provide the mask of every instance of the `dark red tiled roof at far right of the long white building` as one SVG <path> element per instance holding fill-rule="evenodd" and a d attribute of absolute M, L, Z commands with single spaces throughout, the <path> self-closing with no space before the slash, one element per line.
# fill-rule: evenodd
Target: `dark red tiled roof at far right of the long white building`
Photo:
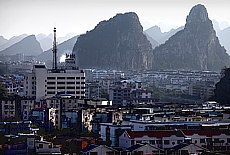
<path fill-rule="evenodd" d="M 215 135 L 220 135 L 221 133 L 225 133 L 223 130 L 183 130 L 182 131 L 186 136 L 191 136 L 194 134 L 204 135 L 207 137 L 212 137 Z"/>

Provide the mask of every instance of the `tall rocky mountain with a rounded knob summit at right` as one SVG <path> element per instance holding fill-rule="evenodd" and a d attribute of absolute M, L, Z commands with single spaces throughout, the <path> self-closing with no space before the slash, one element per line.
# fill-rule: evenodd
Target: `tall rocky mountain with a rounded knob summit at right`
<path fill-rule="evenodd" d="M 201 4 L 191 9 L 183 30 L 154 49 L 154 61 L 158 69 L 220 70 L 230 64 Z"/>

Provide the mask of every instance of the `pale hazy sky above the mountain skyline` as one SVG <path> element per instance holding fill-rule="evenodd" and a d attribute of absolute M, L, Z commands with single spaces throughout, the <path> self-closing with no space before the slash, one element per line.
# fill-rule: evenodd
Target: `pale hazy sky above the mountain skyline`
<path fill-rule="evenodd" d="M 54 26 L 58 37 L 81 34 L 117 13 L 131 11 L 144 30 L 158 24 L 166 31 L 183 26 L 196 4 L 205 5 L 210 19 L 230 24 L 230 0 L 0 0 L 0 36 L 50 34 Z"/>

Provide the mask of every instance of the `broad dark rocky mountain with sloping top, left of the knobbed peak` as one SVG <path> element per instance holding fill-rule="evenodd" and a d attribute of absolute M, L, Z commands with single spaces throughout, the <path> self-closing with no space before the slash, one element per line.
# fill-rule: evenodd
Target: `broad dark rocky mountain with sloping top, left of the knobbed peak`
<path fill-rule="evenodd" d="M 74 48 L 77 66 L 118 70 L 152 67 L 152 47 L 133 13 L 117 14 L 81 35 Z"/>

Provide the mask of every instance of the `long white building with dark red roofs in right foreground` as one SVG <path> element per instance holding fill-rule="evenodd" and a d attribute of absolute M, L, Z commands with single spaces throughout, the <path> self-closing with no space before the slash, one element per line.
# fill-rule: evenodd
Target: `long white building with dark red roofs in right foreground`
<path fill-rule="evenodd" d="M 189 140 L 199 147 L 220 151 L 228 146 L 229 137 L 228 130 L 124 131 L 119 137 L 119 146 L 126 149 L 136 144 L 148 143 L 169 150 Z"/>

